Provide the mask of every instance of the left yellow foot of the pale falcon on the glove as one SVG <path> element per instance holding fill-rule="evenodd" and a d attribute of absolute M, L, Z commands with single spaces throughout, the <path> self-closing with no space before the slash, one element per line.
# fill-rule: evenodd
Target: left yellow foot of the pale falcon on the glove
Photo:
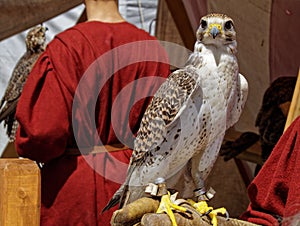
<path fill-rule="evenodd" d="M 159 207 L 158 207 L 156 213 L 168 214 L 168 216 L 170 217 L 170 220 L 172 222 L 172 225 L 177 226 L 176 219 L 175 219 L 175 216 L 174 216 L 174 213 L 172 210 L 177 210 L 180 212 L 190 212 L 190 211 L 182 206 L 178 206 L 178 205 L 174 204 L 173 203 L 174 201 L 175 200 L 172 200 L 172 198 L 171 198 L 170 192 L 163 195 L 161 197 L 161 201 L 160 201 L 160 204 L 159 204 Z"/>

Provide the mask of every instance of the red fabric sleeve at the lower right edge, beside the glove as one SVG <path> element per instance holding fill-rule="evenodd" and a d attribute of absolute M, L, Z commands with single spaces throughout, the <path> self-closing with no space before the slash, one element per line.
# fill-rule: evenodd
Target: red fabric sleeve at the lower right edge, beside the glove
<path fill-rule="evenodd" d="M 240 217 L 259 225 L 299 225 L 300 117 L 281 136 L 248 187 L 250 204 Z"/>

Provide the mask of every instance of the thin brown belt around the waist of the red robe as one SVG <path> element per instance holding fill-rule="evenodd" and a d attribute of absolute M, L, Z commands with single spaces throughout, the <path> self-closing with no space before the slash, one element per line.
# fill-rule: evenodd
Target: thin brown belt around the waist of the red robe
<path fill-rule="evenodd" d="M 65 151 L 66 155 L 89 155 L 89 154 L 98 154 L 98 153 L 105 153 L 105 152 L 114 152 L 114 151 L 122 151 L 127 150 L 127 147 L 124 144 L 106 144 L 102 146 L 93 146 L 87 148 L 67 148 Z"/>

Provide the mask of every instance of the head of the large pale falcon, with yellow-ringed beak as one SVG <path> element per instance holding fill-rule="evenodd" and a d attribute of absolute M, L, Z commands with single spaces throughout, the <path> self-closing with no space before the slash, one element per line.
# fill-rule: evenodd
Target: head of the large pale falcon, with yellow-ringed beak
<path fill-rule="evenodd" d="M 197 39 L 205 45 L 226 45 L 236 42 L 233 20 L 218 13 L 208 14 L 201 18 L 197 30 Z"/>

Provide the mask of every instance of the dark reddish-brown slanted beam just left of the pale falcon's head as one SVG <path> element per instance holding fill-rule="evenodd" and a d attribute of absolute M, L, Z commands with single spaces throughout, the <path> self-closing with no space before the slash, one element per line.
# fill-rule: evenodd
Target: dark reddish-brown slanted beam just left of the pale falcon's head
<path fill-rule="evenodd" d="M 165 0 L 186 48 L 194 50 L 196 34 L 181 0 Z"/>

